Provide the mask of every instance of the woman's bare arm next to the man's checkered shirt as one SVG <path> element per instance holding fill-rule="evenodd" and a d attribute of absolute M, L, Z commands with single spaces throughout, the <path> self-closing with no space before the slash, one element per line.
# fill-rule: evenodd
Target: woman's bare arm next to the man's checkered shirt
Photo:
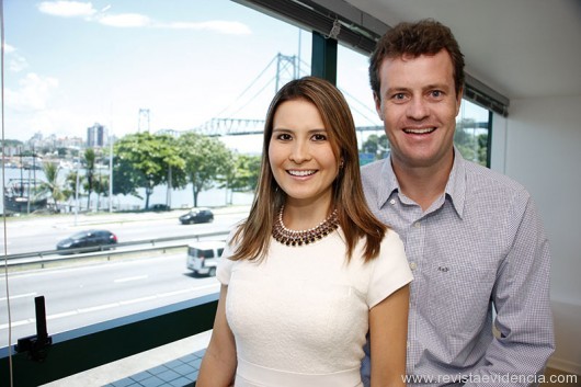
<path fill-rule="evenodd" d="M 369 310 L 372 387 L 406 386 L 409 299 L 406 285 Z"/>

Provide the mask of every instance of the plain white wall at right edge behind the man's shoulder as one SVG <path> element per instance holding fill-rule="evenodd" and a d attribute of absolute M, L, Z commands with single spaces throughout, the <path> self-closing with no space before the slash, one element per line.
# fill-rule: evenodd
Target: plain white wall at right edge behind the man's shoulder
<path fill-rule="evenodd" d="M 581 374 L 581 95 L 511 100 L 509 112 L 493 122 L 491 167 L 538 206 L 552 255 L 549 365 Z"/>

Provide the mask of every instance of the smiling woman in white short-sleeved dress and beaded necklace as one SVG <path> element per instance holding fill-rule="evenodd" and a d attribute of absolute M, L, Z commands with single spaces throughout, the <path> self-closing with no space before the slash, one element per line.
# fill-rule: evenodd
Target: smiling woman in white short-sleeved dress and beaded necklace
<path fill-rule="evenodd" d="M 411 273 L 365 205 L 353 117 L 331 83 L 306 77 L 274 96 L 257 195 L 217 277 L 197 386 L 362 386 L 367 332 L 372 386 L 405 386 Z"/>

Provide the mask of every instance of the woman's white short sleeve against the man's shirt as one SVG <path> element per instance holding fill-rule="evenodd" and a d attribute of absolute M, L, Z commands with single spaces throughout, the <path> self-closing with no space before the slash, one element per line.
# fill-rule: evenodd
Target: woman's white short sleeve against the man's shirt
<path fill-rule="evenodd" d="M 373 263 L 374 266 L 367 291 L 369 309 L 413 280 L 408 259 L 406 258 L 403 242 L 399 235 L 391 229 L 387 231 L 381 241 L 381 251 Z"/>

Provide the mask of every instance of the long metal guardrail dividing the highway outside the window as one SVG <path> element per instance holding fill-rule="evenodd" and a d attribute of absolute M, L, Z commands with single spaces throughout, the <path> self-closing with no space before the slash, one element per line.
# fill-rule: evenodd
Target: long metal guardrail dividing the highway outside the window
<path fill-rule="evenodd" d="M 189 243 L 171 243 L 175 241 L 197 241 L 202 238 L 210 238 L 210 237 L 226 237 L 229 231 L 214 231 L 214 232 L 205 232 L 205 234 L 196 234 L 196 235 L 190 235 L 190 236 L 178 236 L 178 237 L 164 237 L 164 238 L 156 238 L 156 239 L 144 239 L 144 240 L 136 240 L 136 241 L 128 241 L 128 242 L 121 242 L 116 243 L 114 246 L 101 246 L 99 247 L 99 251 L 95 252 L 95 248 L 78 248 L 78 249 L 69 249 L 69 250 L 44 250 L 44 251 L 34 251 L 34 252 L 25 252 L 25 253 L 18 253 L 18 254 L 8 254 L 4 259 L 1 260 L 0 268 L 9 266 L 22 266 L 22 265 L 30 265 L 30 264 L 44 264 L 55 261 L 66 261 L 66 260 L 79 260 L 79 259 L 94 259 L 94 258 L 103 258 L 106 257 L 113 257 L 113 255 L 121 255 L 121 254 L 128 254 L 137 251 L 155 251 L 155 250 L 166 250 L 166 249 L 175 249 L 175 248 L 182 248 L 187 247 Z M 148 246 L 148 247 L 145 247 Z M 133 247 L 139 247 L 135 249 L 125 249 L 125 248 L 133 248 Z"/>

